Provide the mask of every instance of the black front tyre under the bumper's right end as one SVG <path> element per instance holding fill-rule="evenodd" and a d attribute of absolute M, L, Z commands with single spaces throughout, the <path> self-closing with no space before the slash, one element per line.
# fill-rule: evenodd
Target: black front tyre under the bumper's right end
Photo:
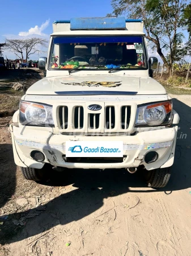
<path fill-rule="evenodd" d="M 152 171 L 145 170 L 145 179 L 148 187 L 152 188 L 163 188 L 167 185 L 168 180 L 171 176 L 171 167 L 158 168 Z"/>

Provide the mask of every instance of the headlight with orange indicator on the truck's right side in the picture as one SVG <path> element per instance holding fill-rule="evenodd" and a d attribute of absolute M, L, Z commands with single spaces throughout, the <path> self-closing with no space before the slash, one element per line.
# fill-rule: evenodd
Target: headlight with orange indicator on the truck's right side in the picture
<path fill-rule="evenodd" d="M 170 125 L 172 123 L 172 101 L 139 106 L 135 126 Z"/>

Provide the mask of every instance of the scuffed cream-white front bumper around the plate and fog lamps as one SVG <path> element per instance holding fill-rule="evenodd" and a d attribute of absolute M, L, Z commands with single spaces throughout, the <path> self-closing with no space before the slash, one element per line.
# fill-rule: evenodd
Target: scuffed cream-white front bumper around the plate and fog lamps
<path fill-rule="evenodd" d="M 147 170 L 172 166 L 175 156 L 177 126 L 165 127 L 160 130 L 142 131 L 134 136 L 78 136 L 53 134 L 50 130 L 34 130 L 29 126 L 10 126 L 15 163 L 22 167 L 43 168 L 45 163 L 66 168 L 127 168 L 144 165 Z M 82 163 L 65 162 L 66 141 L 122 141 L 124 144 L 124 160 L 120 163 Z M 36 162 L 30 156 L 32 150 L 44 153 L 43 163 Z M 158 152 L 158 160 L 145 163 L 145 155 L 149 151 Z"/>

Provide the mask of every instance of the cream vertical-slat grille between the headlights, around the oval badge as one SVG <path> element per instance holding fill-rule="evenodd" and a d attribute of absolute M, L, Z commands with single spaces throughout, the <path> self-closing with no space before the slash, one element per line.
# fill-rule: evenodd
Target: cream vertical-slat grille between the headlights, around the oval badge
<path fill-rule="evenodd" d="M 84 102 L 80 105 L 68 103 L 67 106 L 58 105 L 57 127 L 61 132 L 70 133 L 127 133 L 133 131 L 137 105 L 130 102 L 99 102 L 100 110 L 88 109 L 92 103 Z M 59 117 L 59 118 L 58 118 Z"/>

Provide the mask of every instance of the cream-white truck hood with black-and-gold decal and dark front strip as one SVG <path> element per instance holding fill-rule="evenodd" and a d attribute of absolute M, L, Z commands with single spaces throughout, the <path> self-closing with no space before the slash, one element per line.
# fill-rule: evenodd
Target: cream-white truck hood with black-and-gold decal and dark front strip
<path fill-rule="evenodd" d="M 159 82 L 151 77 L 133 76 L 62 76 L 47 77 L 33 84 L 26 94 L 87 95 L 87 94 L 166 94 Z"/>

